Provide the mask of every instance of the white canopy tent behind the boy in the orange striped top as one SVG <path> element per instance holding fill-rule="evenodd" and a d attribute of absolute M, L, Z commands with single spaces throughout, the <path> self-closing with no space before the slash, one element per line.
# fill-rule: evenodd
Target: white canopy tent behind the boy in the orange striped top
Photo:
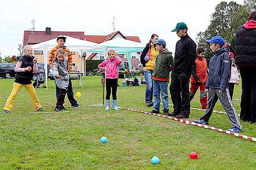
<path fill-rule="evenodd" d="M 76 39 L 73 37 L 69 36 L 64 36 L 67 37 L 67 40 L 65 42 L 65 46 L 73 52 L 80 52 L 80 62 L 82 62 L 82 54 L 86 51 L 90 50 L 104 50 L 105 46 L 101 44 L 96 44 L 94 42 L 90 41 L 85 41 L 85 40 L 80 40 Z M 52 40 L 40 42 L 39 44 L 32 45 L 33 50 L 43 50 L 43 55 L 44 55 L 44 70 L 47 70 L 47 63 L 48 63 L 48 51 L 54 48 L 57 45 L 57 37 Z M 81 64 L 81 70 L 82 70 L 82 64 Z M 46 87 L 48 89 L 48 84 L 47 84 L 47 71 L 46 71 Z"/>

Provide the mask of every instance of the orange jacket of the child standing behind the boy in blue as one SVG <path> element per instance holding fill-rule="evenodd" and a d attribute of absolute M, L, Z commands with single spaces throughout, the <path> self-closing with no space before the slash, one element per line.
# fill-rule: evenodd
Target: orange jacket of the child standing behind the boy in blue
<path fill-rule="evenodd" d="M 197 82 L 195 79 L 199 78 Z M 191 83 L 205 83 L 207 82 L 207 61 L 205 58 L 196 57 L 195 64 L 193 65 Z"/>

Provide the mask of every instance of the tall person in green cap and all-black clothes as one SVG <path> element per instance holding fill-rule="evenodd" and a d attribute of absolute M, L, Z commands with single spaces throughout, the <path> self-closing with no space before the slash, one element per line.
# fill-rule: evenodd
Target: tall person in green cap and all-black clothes
<path fill-rule="evenodd" d="M 172 30 L 180 37 L 176 43 L 170 86 L 174 104 L 174 112 L 170 116 L 176 116 L 176 118 L 188 118 L 190 114 L 189 78 L 197 55 L 196 44 L 188 36 L 187 30 L 185 23 L 177 23 L 176 28 Z"/>

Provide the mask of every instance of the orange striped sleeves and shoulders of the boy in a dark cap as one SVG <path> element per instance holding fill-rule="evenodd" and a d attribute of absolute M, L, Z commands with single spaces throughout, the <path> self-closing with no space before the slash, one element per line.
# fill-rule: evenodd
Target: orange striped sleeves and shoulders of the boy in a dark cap
<path fill-rule="evenodd" d="M 55 48 L 52 48 L 50 53 L 49 53 L 49 57 L 48 57 L 48 63 L 49 63 L 49 66 L 52 68 L 52 63 L 53 63 L 53 58 L 57 52 L 57 50 L 59 49 L 59 45 L 55 46 Z M 64 50 L 64 56 L 66 58 L 68 58 L 68 74 L 71 72 L 72 70 L 72 53 L 69 51 L 68 48 L 66 48 L 66 46 L 63 46 L 63 50 Z"/>

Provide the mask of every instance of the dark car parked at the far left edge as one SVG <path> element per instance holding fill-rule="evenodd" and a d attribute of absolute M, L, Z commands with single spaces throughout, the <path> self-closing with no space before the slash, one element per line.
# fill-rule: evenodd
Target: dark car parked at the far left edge
<path fill-rule="evenodd" d="M 15 76 L 15 63 L 0 63 L 0 77 L 10 79 Z"/>

